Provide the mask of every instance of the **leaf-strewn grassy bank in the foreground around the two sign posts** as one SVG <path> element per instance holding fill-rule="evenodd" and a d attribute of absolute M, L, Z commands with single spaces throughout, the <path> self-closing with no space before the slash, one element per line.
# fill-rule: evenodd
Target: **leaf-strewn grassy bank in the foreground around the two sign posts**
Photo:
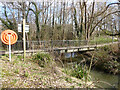
<path fill-rule="evenodd" d="M 91 81 L 66 74 L 64 68 L 54 61 L 49 54 L 27 57 L 12 55 L 2 56 L 2 88 L 86 88 L 94 87 Z"/>

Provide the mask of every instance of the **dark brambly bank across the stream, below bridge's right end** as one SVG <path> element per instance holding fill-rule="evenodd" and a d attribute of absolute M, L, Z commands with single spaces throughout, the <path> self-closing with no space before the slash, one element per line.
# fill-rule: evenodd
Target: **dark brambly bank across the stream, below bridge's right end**
<path fill-rule="evenodd" d="M 111 74 L 120 74 L 120 52 L 117 44 L 98 48 L 96 51 L 87 52 L 88 63 L 93 58 L 93 67 Z"/>

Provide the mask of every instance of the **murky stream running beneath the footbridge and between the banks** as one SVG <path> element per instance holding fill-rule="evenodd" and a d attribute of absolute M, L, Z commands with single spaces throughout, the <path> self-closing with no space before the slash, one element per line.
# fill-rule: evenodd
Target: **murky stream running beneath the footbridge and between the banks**
<path fill-rule="evenodd" d="M 65 53 L 63 56 L 65 59 L 71 59 L 72 60 L 77 57 L 78 53 Z M 82 60 L 82 57 L 78 57 L 77 60 L 72 61 L 72 63 L 79 63 Z M 70 64 L 71 62 L 65 62 L 67 64 Z M 92 68 L 91 72 L 91 80 L 92 81 L 98 81 L 99 83 L 96 83 L 96 87 L 101 87 L 101 88 L 118 88 L 118 82 L 119 78 L 118 75 L 113 75 L 109 73 L 105 73 L 103 71 L 98 71 L 95 68 Z"/>

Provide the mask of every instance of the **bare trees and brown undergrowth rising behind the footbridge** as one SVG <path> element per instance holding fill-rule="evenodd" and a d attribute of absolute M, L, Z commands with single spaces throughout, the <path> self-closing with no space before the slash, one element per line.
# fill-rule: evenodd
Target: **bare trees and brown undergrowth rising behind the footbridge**
<path fill-rule="evenodd" d="M 120 35 L 119 2 L 4 2 L 0 21 L 3 30 L 11 29 L 18 33 L 18 24 L 25 16 L 26 24 L 30 25 L 27 40 L 89 41 L 100 31 Z M 18 35 L 21 40 L 22 33 Z"/>

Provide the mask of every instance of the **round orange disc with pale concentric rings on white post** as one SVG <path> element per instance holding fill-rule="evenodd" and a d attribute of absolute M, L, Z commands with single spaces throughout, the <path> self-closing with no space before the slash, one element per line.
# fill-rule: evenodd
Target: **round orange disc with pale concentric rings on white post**
<path fill-rule="evenodd" d="M 9 35 L 10 35 L 10 41 L 11 41 L 11 45 L 12 44 L 15 44 L 17 39 L 18 39 L 18 36 L 17 36 L 17 33 L 12 31 L 12 30 L 4 30 L 2 33 L 1 33 L 1 41 L 4 43 L 4 44 L 7 44 L 9 45 Z"/>

